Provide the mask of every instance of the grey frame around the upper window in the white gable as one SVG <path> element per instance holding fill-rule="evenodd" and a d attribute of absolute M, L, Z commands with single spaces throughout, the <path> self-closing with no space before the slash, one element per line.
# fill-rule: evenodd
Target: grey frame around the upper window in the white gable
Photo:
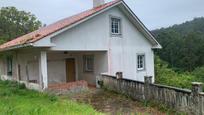
<path fill-rule="evenodd" d="M 118 28 L 119 33 L 112 32 L 112 19 L 119 20 L 119 28 Z M 116 36 L 122 37 L 122 19 L 120 17 L 110 15 L 109 16 L 109 30 L 110 30 L 111 37 L 116 37 Z"/>

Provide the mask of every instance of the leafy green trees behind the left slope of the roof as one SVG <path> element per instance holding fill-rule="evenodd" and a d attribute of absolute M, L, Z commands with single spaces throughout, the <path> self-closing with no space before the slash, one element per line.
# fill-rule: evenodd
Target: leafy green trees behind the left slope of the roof
<path fill-rule="evenodd" d="M 30 12 L 19 11 L 15 7 L 0 9 L 0 43 L 37 30 L 41 26 L 42 23 Z"/>

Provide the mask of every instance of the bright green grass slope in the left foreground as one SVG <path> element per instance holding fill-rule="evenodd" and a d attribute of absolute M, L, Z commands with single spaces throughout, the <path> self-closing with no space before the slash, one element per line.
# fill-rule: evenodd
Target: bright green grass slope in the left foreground
<path fill-rule="evenodd" d="M 91 106 L 0 81 L 0 115 L 98 115 Z"/>

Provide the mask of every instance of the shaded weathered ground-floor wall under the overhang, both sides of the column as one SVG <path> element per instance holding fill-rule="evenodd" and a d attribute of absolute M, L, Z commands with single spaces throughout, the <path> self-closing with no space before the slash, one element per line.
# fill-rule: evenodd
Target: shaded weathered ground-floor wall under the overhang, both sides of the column
<path fill-rule="evenodd" d="M 13 55 L 13 75 L 9 79 L 20 81 L 36 81 L 40 83 L 39 77 L 39 53 L 41 50 L 27 49 L 11 53 Z M 94 72 L 83 71 L 83 55 L 94 55 Z M 66 59 L 74 58 L 76 61 L 76 80 L 86 80 L 89 84 L 96 84 L 96 76 L 107 72 L 107 52 L 47 52 L 48 83 L 66 83 Z M 20 71 L 18 71 L 20 65 Z M 6 59 L 0 59 L 1 75 L 7 77 Z M 20 72 L 20 74 L 18 73 Z M 20 75 L 20 76 L 18 76 Z"/>

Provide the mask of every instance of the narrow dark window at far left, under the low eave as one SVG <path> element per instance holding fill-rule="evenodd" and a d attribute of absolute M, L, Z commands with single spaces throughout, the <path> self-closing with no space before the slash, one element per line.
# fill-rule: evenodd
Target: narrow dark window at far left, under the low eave
<path fill-rule="evenodd" d="M 6 57 L 6 67 L 7 67 L 7 75 L 12 76 L 13 75 L 13 57 L 12 56 Z"/>

